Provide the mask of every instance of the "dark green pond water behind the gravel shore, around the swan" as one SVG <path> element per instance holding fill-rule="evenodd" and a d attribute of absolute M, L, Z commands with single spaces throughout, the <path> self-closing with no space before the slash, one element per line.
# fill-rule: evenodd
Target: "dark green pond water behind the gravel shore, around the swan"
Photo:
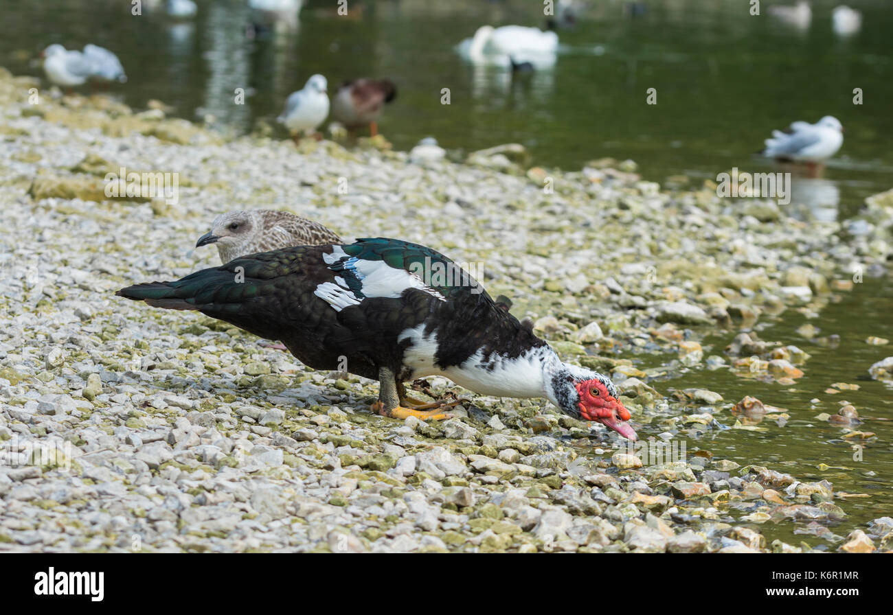
<path fill-rule="evenodd" d="M 854 37 L 836 36 L 830 9 L 815 0 L 801 31 L 741 0 L 649 0 L 644 17 L 624 17 L 622 0 L 590 3 L 575 29 L 560 33 L 554 71 L 512 79 L 474 69 L 453 49 L 480 25 L 541 26 L 538 0 L 308 2 L 294 30 L 249 40 L 244 0 L 202 1 L 193 22 L 132 16 L 113 0 L 0 0 L 0 62 L 41 74 L 38 54 L 54 42 L 108 46 L 131 79 L 115 87 L 125 102 L 160 99 L 184 117 L 214 116 L 249 130 L 271 120 L 314 72 L 330 81 L 394 79 L 395 103 L 380 122 L 398 149 L 421 137 L 465 151 L 511 141 L 545 166 L 579 168 L 603 156 L 631 158 L 648 179 L 684 173 L 698 181 L 737 166 L 766 170 L 753 153 L 790 121 L 839 118 L 846 142 L 827 173 L 841 212 L 893 186 L 893 54 L 889 0 L 848 0 L 864 13 Z M 233 104 L 237 87 L 255 92 Z M 451 104 L 440 104 L 450 88 Z M 646 104 L 646 90 L 657 104 Z M 864 104 L 853 104 L 861 87 Z M 198 110 L 198 113 L 196 113 Z"/>

